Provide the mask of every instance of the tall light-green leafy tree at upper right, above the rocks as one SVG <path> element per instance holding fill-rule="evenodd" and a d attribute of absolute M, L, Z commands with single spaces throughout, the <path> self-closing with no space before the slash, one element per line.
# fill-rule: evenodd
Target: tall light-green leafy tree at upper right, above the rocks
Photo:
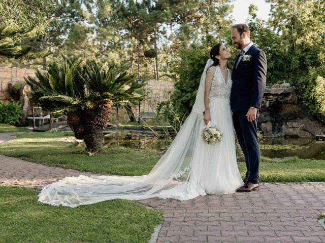
<path fill-rule="evenodd" d="M 283 50 L 277 58 L 283 60 L 279 69 L 282 78 L 296 86 L 303 107 L 319 120 L 325 120 L 325 112 L 321 111 L 314 96 L 316 80 L 325 77 L 325 1 L 268 2 L 271 3 L 270 24 L 281 36 Z"/>

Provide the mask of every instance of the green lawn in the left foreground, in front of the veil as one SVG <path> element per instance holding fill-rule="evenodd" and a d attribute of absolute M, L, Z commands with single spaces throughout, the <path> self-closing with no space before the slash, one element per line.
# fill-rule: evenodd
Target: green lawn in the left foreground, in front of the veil
<path fill-rule="evenodd" d="M 0 186 L 0 242 L 148 242 L 162 213 L 128 200 L 77 208 L 38 203 L 37 190 Z"/>

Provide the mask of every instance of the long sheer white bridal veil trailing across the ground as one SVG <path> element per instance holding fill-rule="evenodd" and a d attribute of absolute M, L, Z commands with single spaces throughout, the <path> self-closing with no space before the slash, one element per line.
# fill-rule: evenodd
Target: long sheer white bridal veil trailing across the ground
<path fill-rule="evenodd" d="M 209 59 L 201 76 L 196 102 L 166 153 L 148 175 L 67 177 L 42 188 L 39 201 L 53 206 L 77 207 L 109 199 L 150 197 L 191 199 L 205 195 L 200 188 L 204 142 L 204 85 Z"/>

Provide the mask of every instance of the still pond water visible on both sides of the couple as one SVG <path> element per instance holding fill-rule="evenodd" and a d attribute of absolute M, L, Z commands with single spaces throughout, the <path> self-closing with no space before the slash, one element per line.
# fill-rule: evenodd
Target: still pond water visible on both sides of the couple
<path fill-rule="evenodd" d="M 155 149 L 165 151 L 173 141 L 173 138 L 159 139 L 151 133 L 142 131 L 107 131 L 105 144 L 117 146 Z M 298 156 L 299 158 L 324 159 L 325 140 L 312 138 L 268 138 L 264 137 L 265 146 L 261 149 L 263 156 L 270 158 L 282 158 Z"/>

